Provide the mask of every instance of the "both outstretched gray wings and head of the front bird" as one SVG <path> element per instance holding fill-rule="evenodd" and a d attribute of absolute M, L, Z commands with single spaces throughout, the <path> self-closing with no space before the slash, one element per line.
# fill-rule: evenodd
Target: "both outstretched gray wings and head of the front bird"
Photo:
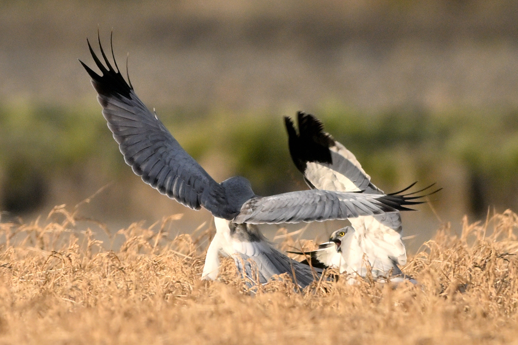
<path fill-rule="evenodd" d="M 303 190 L 259 197 L 244 177 L 222 183 L 214 179 L 180 146 L 155 113 L 149 111 L 124 80 L 115 58 L 113 68 L 100 45 L 104 63 L 90 53 L 102 76 L 81 64 L 92 78 L 113 138 L 135 174 L 153 188 L 193 209 L 235 223 L 282 223 L 347 219 L 406 209 L 419 202 L 398 195 Z"/>

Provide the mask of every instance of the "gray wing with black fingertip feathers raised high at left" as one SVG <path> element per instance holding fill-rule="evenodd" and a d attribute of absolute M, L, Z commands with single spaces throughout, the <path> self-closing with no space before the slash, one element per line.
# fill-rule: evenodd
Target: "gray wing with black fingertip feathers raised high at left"
<path fill-rule="evenodd" d="M 227 209 L 223 187 L 184 151 L 156 114 L 146 108 L 135 94 L 131 82 L 129 85 L 126 83 L 115 62 L 113 46 L 116 69 L 109 63 L 100 39 L 100 52 L 106 67 L 95 55 L 90 42 L 88 47 L 103 75 L 99 76 L 80 62 L 92 78 L 108 128 L 135 174 L 185 206 L 193 209 L 203 206 L 214 216 L 232 219 L 236 210 Z"/>

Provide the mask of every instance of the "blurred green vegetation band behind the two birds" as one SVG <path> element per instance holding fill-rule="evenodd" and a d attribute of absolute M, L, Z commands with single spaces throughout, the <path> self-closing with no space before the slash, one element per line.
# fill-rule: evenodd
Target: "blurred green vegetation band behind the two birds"
<path fill-rule="evenodd" d="M 15 214 L 33 211 L 45 202 L 56 178 L 77 180 L 75 186 L 87 196 L 92 191 L 81 181 L 85 170 L 103 176 L 104 183 L 131 175 L 99 113 L 49 106 L 0 109 L 0 208 Z M 192 119 L 159 111 L 202 165 L 210 165 L 211 156 L 228 162 L 214 168 L 205 165 L 207 170 L 223 169 L 220 181 L 240 174 L 251 180 L 256 193 L 265 195 L 304 188 L 289 157 L 281 117 L 295 114 L 272 115 L 221 111 Z M 450 173 L 442 170 L 443 164 L 453 161 L 468 178 L 467 186 L 454 187 L 468 188 L 472 213 L 483 214 L 488 206 L 516 206 L 518 111 L 458 109 L 432 114 L 407 109 L 366 114 L 327 107 L 315 115 L 387 191 L 414 179 L 441 186 Z M 95 164 L 88 164 L 91 161 Z"/>

